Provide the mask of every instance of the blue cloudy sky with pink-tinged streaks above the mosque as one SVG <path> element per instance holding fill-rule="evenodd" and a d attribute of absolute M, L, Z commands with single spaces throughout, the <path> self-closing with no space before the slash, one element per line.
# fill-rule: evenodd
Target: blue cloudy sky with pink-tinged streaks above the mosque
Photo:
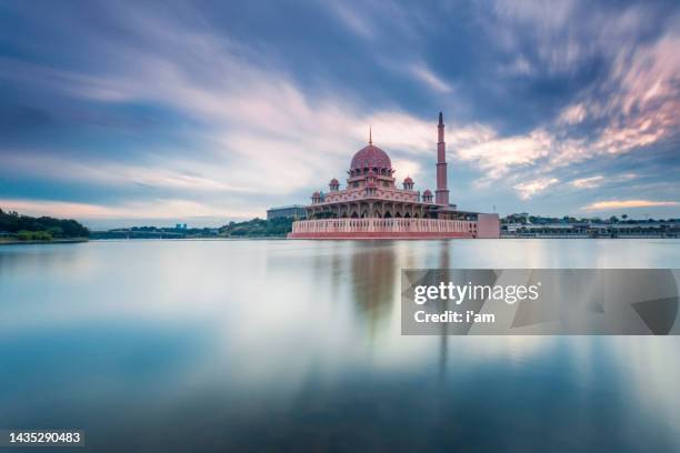
<path fill-rule="evenodd" d="M 677 1 L 0 0 L 0 208 L 221 225 L 373 143 L 481 212 L 680 218 Z"/>

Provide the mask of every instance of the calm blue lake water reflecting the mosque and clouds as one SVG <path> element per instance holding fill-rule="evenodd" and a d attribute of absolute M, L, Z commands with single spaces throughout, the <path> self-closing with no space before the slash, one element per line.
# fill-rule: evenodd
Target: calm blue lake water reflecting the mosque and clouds
<path fill-rule="evenodd" d="M 680 241 L 0 246 L 0 429 L 84 429 L 90 451 L 680 451 L 680 338 L 401 336 L 400 269 L 447 266 L 680 268 Z"/>

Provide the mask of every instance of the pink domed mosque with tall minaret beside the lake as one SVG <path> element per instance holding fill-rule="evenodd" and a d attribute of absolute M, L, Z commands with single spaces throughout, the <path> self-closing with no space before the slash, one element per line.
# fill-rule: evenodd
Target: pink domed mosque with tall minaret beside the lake
<path fill-rule="evenodd" d="M 396 170 L 387 152 L 369 133 L 367 147 L 357 151 L 347 187 L 337 179 L 327 193 L 314 192 L 307 205 L 308 220 L 293 222 L 291 239 L 447 239 L 499 238 L 498 214 L 459 211 L 449 203 L 447 145 L 441 112 L 437 142 L 437 189 L 422 193 L 407 177 L 397 187 Z"/>

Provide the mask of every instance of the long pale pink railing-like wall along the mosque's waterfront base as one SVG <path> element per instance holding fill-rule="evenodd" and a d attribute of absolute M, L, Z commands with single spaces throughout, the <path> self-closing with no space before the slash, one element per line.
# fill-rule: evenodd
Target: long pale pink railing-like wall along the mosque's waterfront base
<path fill-rule="evenodd" d="M 442 219 L 320 219 L 298 220 L 292 224 L 293 233 L 339 232 L 446 232 L 473 233 L 477 222 Z"/>

